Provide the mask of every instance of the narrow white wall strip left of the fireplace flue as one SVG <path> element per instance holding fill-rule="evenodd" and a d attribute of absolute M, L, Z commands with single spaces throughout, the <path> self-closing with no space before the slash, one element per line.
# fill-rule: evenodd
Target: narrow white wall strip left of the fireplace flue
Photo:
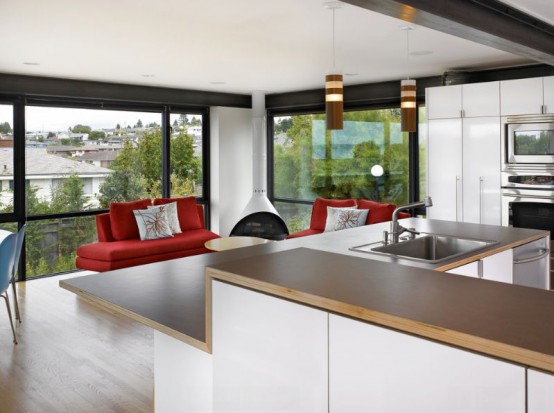
<path fill-rule="evenodd" d="M 252 195 L 252 110 L 210 109 L 211 230 L 228 236 Z"/>

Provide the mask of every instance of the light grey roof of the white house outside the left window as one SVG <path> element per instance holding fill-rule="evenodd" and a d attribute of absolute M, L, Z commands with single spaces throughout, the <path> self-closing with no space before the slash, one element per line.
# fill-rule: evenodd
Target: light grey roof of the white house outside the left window
<path fill-rule="evenodd" d="M 46 148 L 25 149 L 27 176 L 37 175 L 107 175 L 112 170 L 51 155 Z M 0 148 L 0 175 L 13 176 L 13 148 Z"/>

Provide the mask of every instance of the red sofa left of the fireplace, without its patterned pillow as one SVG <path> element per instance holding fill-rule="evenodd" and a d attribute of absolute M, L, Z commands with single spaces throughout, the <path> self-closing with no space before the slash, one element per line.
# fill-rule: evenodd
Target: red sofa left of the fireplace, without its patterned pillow
<path fill-rule="evenodd" d="M 174 201 L 182 233 L 145 241 L 132 211 L 145 209 L 151 201 L 112 203 L 109 213 L 96 216 L 98 242 L 77 249 L 77 268 L 102 272 L 211 252 L 204 243 L 220 237 L 205 228 L 204 209 L 193 197 L 155 199 L 153 204 Z"/>

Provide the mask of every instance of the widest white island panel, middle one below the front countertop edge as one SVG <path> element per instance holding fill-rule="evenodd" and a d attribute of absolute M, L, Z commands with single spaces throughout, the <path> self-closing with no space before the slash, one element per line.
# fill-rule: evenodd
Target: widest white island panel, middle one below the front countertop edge
<path fill-rule="evenodd" d="M 330 413 L 525 412 L 523 367 L 332 314 L 329 371 Z"/>

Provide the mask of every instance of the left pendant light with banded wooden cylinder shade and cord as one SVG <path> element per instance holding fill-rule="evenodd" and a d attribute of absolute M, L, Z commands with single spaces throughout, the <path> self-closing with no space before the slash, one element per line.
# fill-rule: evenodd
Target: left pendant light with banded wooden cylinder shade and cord
<path fill-rule="evenodd" d="M 340 2 L 330 1 L 323 4 L 333 11 L 333 71 L 325 76 L 325 118 L 328 130 L 342 129 L 343 83 L 342 74 L 335 66 L 335 10 L 341 7 Z"/>

